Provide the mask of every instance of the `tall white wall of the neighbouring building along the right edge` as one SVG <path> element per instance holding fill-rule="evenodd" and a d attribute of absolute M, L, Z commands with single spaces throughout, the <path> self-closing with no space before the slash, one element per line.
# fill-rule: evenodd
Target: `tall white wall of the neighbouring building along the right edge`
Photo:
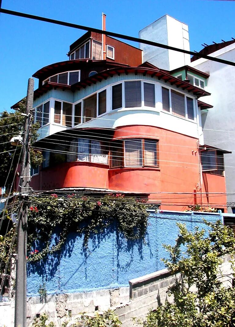
<path fill-rule="evenodd" d="M 235 62 L 235 43 L 210 56 Z M 203 58 L 193 61 L 191 66 L 210 73 L 207 90 L 211 95 L 202 98 L 213 105 L 202 114 L 205 144 L 232 151 L 224 155 L 225 176 L 227 192 L 235 193 L 235 67 Z M 235 202 L 235 196 L 227 196 L 227 202 Z M 231 208 L 228 212 L 232 212 Z"/>

